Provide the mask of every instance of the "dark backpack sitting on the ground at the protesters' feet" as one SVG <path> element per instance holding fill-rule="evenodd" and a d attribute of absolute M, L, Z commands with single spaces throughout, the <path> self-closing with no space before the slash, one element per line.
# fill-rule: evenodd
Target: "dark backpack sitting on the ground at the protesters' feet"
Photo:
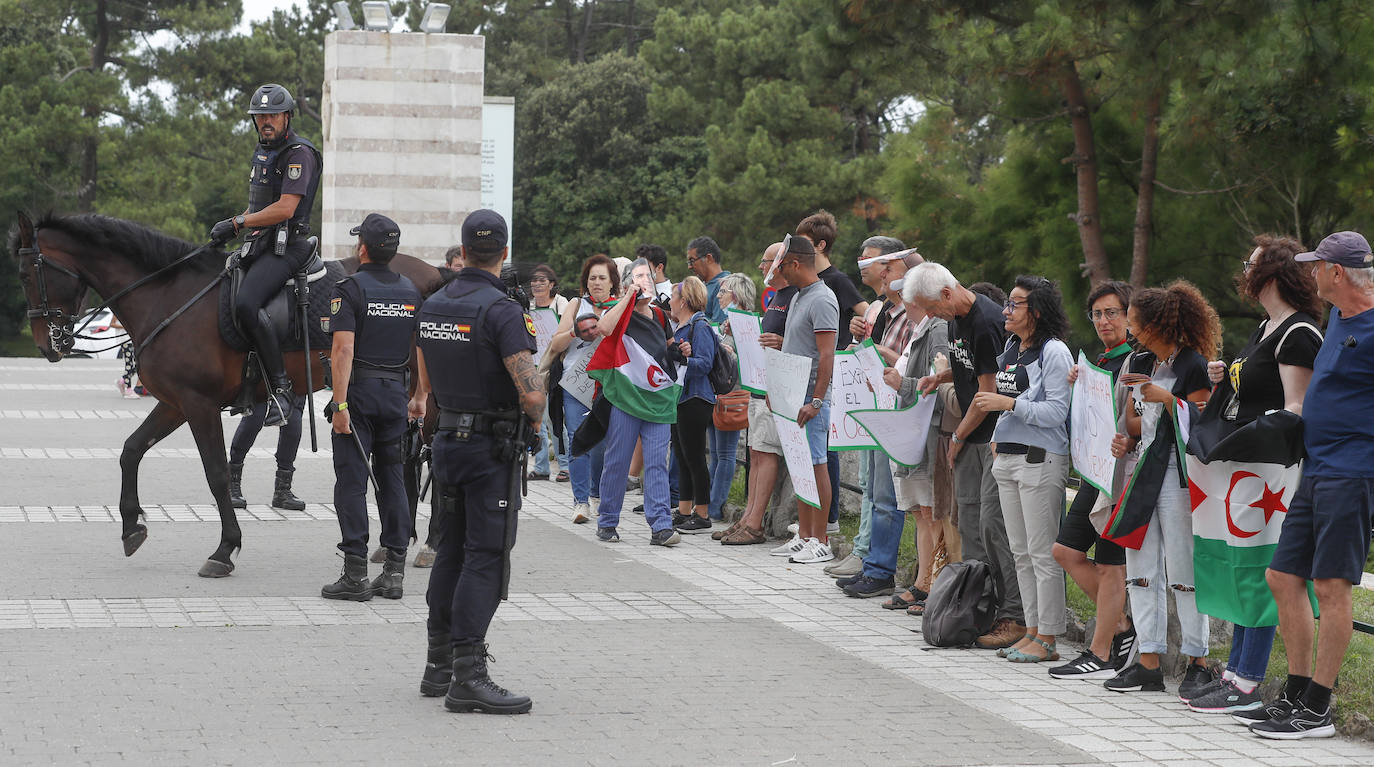
<path fill-rule="evenodd" d="M 996 584 L 987 562 L 949 562 L 930 587 L 921 634 L 932 647 L 971 647 L 992 630 L 996 608 Z"/>

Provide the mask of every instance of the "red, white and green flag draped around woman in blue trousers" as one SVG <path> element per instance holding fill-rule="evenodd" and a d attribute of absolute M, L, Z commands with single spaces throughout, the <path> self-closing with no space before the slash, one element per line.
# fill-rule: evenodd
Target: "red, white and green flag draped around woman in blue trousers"
<path fill-rule="evenodd" d="M 587 363 L 587 375 L 600 384 L 610 404 L 629 415 L 653 423 L 677 421 L 682 382 L 677 366 L 668 359 L 664 330 L 633 307 L 602 340 Z"/>

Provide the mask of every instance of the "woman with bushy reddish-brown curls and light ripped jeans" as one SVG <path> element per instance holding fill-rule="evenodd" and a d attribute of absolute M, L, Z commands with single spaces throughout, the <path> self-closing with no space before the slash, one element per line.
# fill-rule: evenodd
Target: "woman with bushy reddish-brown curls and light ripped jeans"
<path fill-rule="evenodd" d="M 1212 394 L 1206 360 L 1216 356 L 1221 322 L 1197 287 L 1175 280 L 1132 296 L 1127 326 L 1154 356 L 1150 364 L 1153 374 L 1127 373 L 1118 378 L 1124 386 L 1135 389 L 1134 407 L 1127 412 L 1128 425 L 1143 418 L 1145 433 L 1173 440 L 1171 423 L 1176 399 L 1205 407 Z M 1160 423 L 1158 432 L 1151 422 Z M 1136 432 L 1134 426 L 1129 430 Z M 1139 441 L 1139 437 L 1117 434 L 1112 441 L 1112 455 L 1121 458 L 1136 449 Z M 1117 693 L 1164 691 L 1160 654 L 1168 649 L 1168 599 L 1172 588 L 1183 634 L 1180 650 L 1191 657 L 1179 686 L 1179 696 L 1189 700 L 1212 680 L 1206 669 L 1208 624 L 1206 616 L 1198 613 L 1194 595 L 1189 488 L 1178 451 L 1169 449 L 1168 454 L 1168 470 L 1158 488 L 1145 540 L 1139 550 L 1127 548 L 1125 553 L 1127 597 L 1131 599 L 1140 656 L 1103 686 Z M 1134 489 L 1135 493 L 1142 491 Z"/>

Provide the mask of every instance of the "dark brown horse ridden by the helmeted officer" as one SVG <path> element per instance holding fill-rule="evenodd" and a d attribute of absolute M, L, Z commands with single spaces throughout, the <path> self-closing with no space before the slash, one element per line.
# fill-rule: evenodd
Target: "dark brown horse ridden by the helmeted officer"
<path fill-rule="evenodd" d="M 104 216 L 43 217 L 34 224 L 23 213 L 10 236 L 10 253 L 19 260 L 19 279 L 29 302 L 30 327 L 38 351 L 58 362 L 70 349 L 70 334 L 87 290 L 115 296 L 190 254 L 192 243 L 155 232 L 140 224 Z M 206 249 L 181 265 L 124 294 L 110 304 L 135 346 L 154 329 L 191 301 L 224 268 L 225 253 Z M 356 258 L 341 261 L 348 272 Z M 422 294 L 442 285 L 440 271 L 419 258 L 397 254 L 392 268 L 408 276 Z M 316 290 L 330 286 L 316 283 Z M 327 352 L 327 349 L 322 349 Z M 320 355 L 312 351 L 313 381 L 323 385 Z M 229 506 L 229 469 L 224 452 L 220 410 L 243 386 L 243 352 L 220 338 L 218 290 L 209 290 L 139 352 L 139 378 L 158 403 L 124 443 L 120 454 L 120 517 L 124 554 L 132 555 L 148 536 L 139 521 L 139 462 L 143 455 L 183 423 L 191 426 L 201 452 L 210 495 L 220 510 L 220 546 L 199 575 L 224 577 L 234 572 L 232 554 L 243 535 Z M 295 393 L 305 394 L 305 355 L 286 353 L 286 370 Z M 257 385 L 254 401 L 265 392 Z M 315 414 L 306 414 L 313 418 Z"/>

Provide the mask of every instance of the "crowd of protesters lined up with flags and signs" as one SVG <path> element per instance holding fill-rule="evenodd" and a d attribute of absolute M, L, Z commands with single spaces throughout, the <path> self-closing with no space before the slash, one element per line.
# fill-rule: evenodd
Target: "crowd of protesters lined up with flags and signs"
<path fill-rule="evenodd" d="M 1374 415 L 1374 256 L 1360 235 L 1338 232 L 1315 252 L 1286 236 L 1256 238 L 1235 285 L 1264 320 L 1230 362 L 1216 359 L 1220 322 L 1194 286 L 1098 285 L 1077 309 L 1101 342 L 1080 357 L 1087 368 L 1066 344 L 1074 309 L 1054 280 L 1022 275 L 1006 293 L 966 286 L 899 239 L 872 236 L 859 253 L 861 282 L 877 297 L 868 302 L 834 267 L 835 236 L 834 217 L 818 212 L 768 246 L 757 263 L 763 297 L 754 279 L 723 269 L 706 236 L 687 245 L 691 274 L 676 283 L 657 245 L 640 246 L 625 264 L 587 258 L 570 300 L 556 294 L 547 265 L 530 272 L 534 305 L 559 316 L 541 340 L 545 423 L 554 427 L 543 434 L 533 477 L 572 482 L 573 522 L 595 521 L 600 540 L 620 540 L 625 491 L 639 485 L 644 503 L 636 511 L 646 514 L 653 544 L 698 533 L 725 546 L 765 544 L 764 518 L 787 466 L 779 429 L 794 423 L 819 503 L 798 493 L 794 535 L 772 555 L 827 564 L 845 595 L 886 597 L 882 608 L 914 616 L 926 613 L 927 601 L 937 609 L 932 592 L 945 565 L 978 562 L 996 603 L 977 647 L 1120 693 L 1164 691 L 1172 592 L 1178 650 L 1187 657 L 1184 704 L 1271 738 L 1334 733 L 1331 687 L 1374 507 L 1374 434 L 1360 426 Z M 1333 305 L 1325 337 L 1323 300 Z M 809 363 L 800 410 L 779 412 L 786 421 L 767 393 L 717 390 L 713 370 L 743 353 L 732 319 L 758 323 L 757 341 L 747 342 Z M 605 362 L 614 356 L 600 349 L 605 340 L 617 344 L 613 363 Z M 852 553 L 835 561 L 831 378 L 837 351 L 860 344 L 871 344 L 883 364 L 870 390 L 890 390 L 896 410 L 911 414 L 923 459 L 899 462 L 881 441 L 860 451 L 859 532 Z M 636 382 L 635 370 L 649 373 Z M 1112 458 L 1099 458 L 1112 484 L 1081 481 L 1066 503 L 1083 375 L 1109 381 L 1114 436 Z M 655 396 L 669 381 L 676 385 L 665 405 Z M 915 415 L 922 399 L 933 399 L 927 423 Z M 750 470 L 743 511 L 727 525 L 741 432 Z M 550 455 L 558 456 L 555 477 Z M 1220 548 L 1202 529 L 1208 491 L 1198 489 L 1219 467 L 1230 471 L 1231 491 L 1237 477 L 1264 478 L 1254 503 L 1226 492 L 1217 518 L 1231 537 Z M 1292 482 L 1271 482 L 1275 471 Z M 1242 507 L 1253 507 L 1243 524 L 1232 518 Z M 900 590 L 897 551 L 908 517 L 916 562 L 911 586 Z M 1068 663 L 1058 645 L 1065 575 L 1096 605 L 1095 631 Z M 1320 643 L 1314 603 L 1325 619 Z M 1220 674 L 1206 665 L 1209 616 L 1234 623 Z M 1265 702 L 1260 683 L 1276 631 L 1289 676 Z"/>

